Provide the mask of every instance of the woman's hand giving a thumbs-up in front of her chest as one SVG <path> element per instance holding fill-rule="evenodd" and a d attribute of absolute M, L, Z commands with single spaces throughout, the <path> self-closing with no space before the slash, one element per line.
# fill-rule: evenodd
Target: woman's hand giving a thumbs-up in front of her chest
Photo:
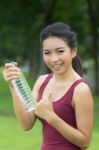
<path fill-rule="evenodd" d="M 42 98 L 36 105 L 35 114 L 48 121 L 54 113 L 52 104 L 52 93 L 50 92 L 46 97 Z"/>

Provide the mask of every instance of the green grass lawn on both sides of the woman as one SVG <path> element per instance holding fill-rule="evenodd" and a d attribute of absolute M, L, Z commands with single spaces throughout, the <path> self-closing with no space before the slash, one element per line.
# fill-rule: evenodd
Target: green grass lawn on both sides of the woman
<path fill-rule="evenodd" d="M 95 117 L 93 138 L 88 150 L 99 149 L 99 97 L 94 96 Z M 39 150 L 41 124 L 39 121 L 30 131 L 24 132 L 13 112 L 9 87 L 0 69 L 0 150 Z"/>

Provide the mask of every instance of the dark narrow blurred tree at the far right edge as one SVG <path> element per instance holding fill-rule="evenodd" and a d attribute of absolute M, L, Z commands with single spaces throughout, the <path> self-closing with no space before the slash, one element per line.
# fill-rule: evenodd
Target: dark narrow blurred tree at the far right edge
<path fill-rule="evenodd" d="M 94 71 L 95 71 L 95 87 L 96 94 L 99 94 L 99 1 L 98 0 L 86 0 L 88 15 L 89 15 L 89 27 L 92 37 L 92 57 L 94 59 Z"/>

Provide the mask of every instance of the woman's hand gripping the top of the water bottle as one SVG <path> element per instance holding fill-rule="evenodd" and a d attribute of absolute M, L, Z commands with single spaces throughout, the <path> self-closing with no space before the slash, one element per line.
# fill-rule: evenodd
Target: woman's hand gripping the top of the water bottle
<path fill-rule="evenodd" d="M 21 70 L 17 66 L 11 63 L 5 64 L 3 75 L 5 81 L 8 82 L 10 85 L 12 85 L 11 80 L 20 78 L 20 74 Z"/>

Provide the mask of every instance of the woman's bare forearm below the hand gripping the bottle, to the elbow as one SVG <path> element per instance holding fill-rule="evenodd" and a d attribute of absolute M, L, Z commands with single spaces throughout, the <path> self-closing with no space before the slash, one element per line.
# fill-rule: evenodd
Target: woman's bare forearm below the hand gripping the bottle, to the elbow
<path fill-rule="evenodd" d="M 34 111 L 27 112 L 25 110 L 13 87 L 10 87 L 10 90 L 12 94 L 13 108 L 16 118 L 23 130 L 30 130 L 35 123 L 36 115 Z"/>

